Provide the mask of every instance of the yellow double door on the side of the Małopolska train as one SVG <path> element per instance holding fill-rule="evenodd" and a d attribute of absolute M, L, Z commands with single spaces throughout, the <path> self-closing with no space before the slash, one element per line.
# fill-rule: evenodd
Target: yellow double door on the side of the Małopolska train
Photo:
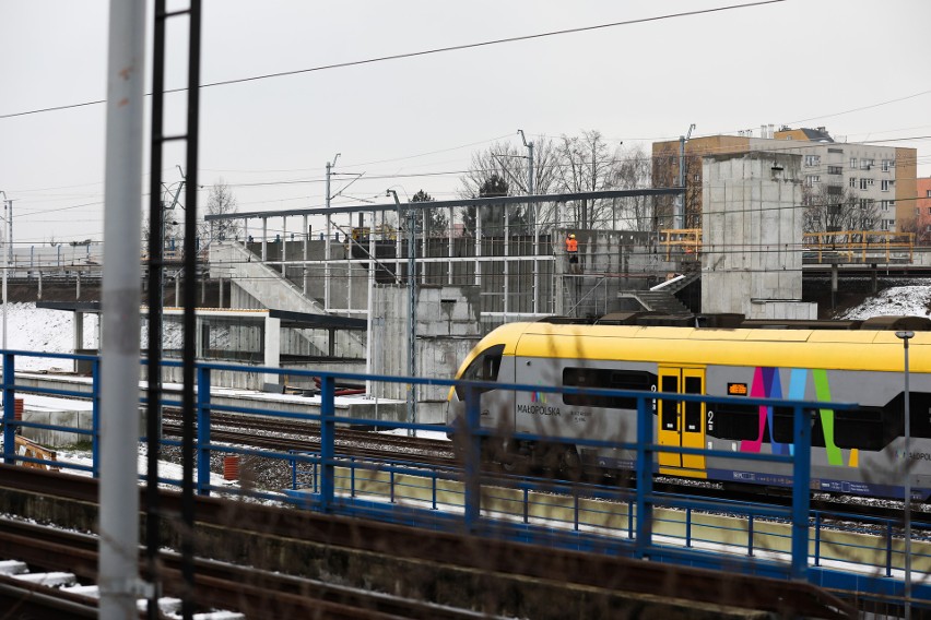
<path fill-rule="evenodd" d="M 661 366 L 659 391 L 672 394 L 704 394 L 705 369 Z M 657 401 L 657 441 L 660 445 L 705 448 L 705 403 L 682 403 L 660 398 Z M 705 456 L 660 452 L 659 465 L 661 468 L 704 472 Z M 681 470 L 674 473 L 688 475 Z M 697 472 L 693 475 L 696 474 Z"/>

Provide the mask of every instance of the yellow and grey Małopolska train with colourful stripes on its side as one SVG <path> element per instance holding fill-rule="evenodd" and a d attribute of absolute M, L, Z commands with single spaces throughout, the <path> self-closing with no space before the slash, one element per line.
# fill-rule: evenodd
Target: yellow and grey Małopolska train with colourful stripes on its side
<path fill-rule="evenodd" d="M 909 341 L 909 450 L 905 444 L 904 347 L 895 332 L 823 329 L 706 329 L 511 323 L 485 336 L 457 379 L 714 396 L 856 403 L 812 414 L 812 488 L 912 498 L 931 487 L 931 332 Z M 481 420 L 495 429 L 485 454 L 505 466 L 616 472 L 635 455 L 616 448 L 517 441 L 535 433 L 634 442 L 633 398 L 487 390 Z M 789 454 L 792 413 L 780 407 L 651 401 L 660 445 Z M 463 394 L 450 395 L 449 424 Z M 792 485 L 791 468 L 767 462 L 660 452 L 655 472 L 724 484 Z"/>

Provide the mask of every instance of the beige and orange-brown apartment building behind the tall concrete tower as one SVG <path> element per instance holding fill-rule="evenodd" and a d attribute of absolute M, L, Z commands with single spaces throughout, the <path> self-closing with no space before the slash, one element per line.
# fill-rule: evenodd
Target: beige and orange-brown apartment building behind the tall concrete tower
<path fill-rule="evenodd" d="M 738 135 L 695 138 L 685 143 L 685 228 L 700 228 L 702 157 L 749 152 L 786 152 L 802 156 L 802 178 L 811 196 L 837 196 L 853 200 L 865 214 L 858 227 L 870 230 L 914 231 L 917 151 L 873 144 L 835 141 L 823 127 L 774 131 L 764 126 L 759 135 L 745 131 Z M 652 145 L 653 187 L 679 184 L 680 141 L 655 142 Z M 803 207 L 804 205 L 799 205 Z M 672 228 L 675 206 L 671 200 L 658 205 L 659 228 Z M 928 223 L 931 225 L 931 222 Z"/>

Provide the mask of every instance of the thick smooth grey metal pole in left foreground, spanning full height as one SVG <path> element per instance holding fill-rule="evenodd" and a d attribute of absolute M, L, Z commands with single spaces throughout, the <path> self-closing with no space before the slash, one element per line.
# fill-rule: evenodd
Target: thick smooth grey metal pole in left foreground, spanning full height
<path fill-rule="evenodd" d="M 110 0 L 101 367 L 99 618 L 138 617 L 139 264 L 145 3 Z M 133 415 L 130 415 L 133 414 Z"/>

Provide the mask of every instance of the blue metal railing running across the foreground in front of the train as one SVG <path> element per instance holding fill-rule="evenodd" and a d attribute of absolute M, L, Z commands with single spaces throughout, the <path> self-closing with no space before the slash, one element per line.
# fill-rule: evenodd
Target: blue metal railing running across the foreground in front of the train
<path fill-rule="evenodd" d="M 14 419 L 14 394 L 16 392 L 28 391 L 36 394 L 72 398 L 89 397 L 89 393 L 81 390 L 17 386 L 14 373 L 15 359 L 22 356 L 80 359 L 92 362 L 90 397 L 93 400 L 94 406 L 93 424 L 90 430 Z M 178 366 L 179 362 L 166 361 L 164 365 Z M 15 453 L 14 438 L 19 429 L 68 430 L 91 439 L 93 465 L 89 467 L 60 462 L 56 465 L 62 468 L 90 472 L 96 476 L 98 474 L 97 445 L 101 432 L 98 368 L 97 358 L 93 356 L 3 351 L 4 462 L 43 463 L 42 460 Z M 197 416 L 198 433 L 196 442 L 198 472 L 196 488 L 197 492 L 201 494 L 210 494 L 212 491 L 245 492 L 211 484 L 211 454 L 255 455 L 280 460 L 291 467 L 292 489 L 287 492 L 250 490 L 251 494 L 290 502 L 326 513 L 352 514 L 433 528 L 455 528 L 457 530 L 461 530 L 464 525 L 468 530 L 476 535 L 507 536 L 535 544 L 561 545 L 602 553 L 650 558 L 657 561 L 680 561 L 720 570 L 733 570 L 736 563 L 742 563 L 745 570 L 766 576 L 808 579 L 822 585 L 836 585 L 849 581 L 853 584 L 850 587 L 856 592 L 863 592 L 865 588 L 868 592 L 891 596 L 901 596 L 903 593 L 901 581 L 894 576 L 894 567 L 900 564 L 903 555 L 903 551 L 897 550 L 893 545 L 894 523 L 880 523 L 877 521 L 877 525 L 885 526 L 887 535 L 883 538 L 885 547 L 883 563 L 876 568 L 877 574 L 873 575 L 872 581 L 859 575 L 852 577 L 842 573 L 835 574 L 837 573 L 836 570 L 825 569 L 822 565 L 826 561 L 837 560 L 836 557 L 824 555 L 823 542 L 825 532 L 827 532 L 824 526 L 824 518 L 826 516 L 838 518 L 838 515 L 824 515 L 820 512 L 812 513 L 810 511 L 808 482 L 811 477 L 811 425 L 809 424 L 809 412 L 826 406 L 835 410 L 844 410 L 851 408 L 851 405 L 740 397 L 740 404 L 744 406 L 791 407 L 794 416 L 796 450 L 792 451 L 792 454 L 747 454 L 655 443 L 653 401 L 661 398 L 695 403 L 726 403 L 734 401 L 733 397 L 484 382 L 457 383 L 438 379 L 409 379 L 275 368 L 258 369 L 258 371 L 269 374 L 320 379 L 319 413 L 272 412 L 260 406 L 224 405 L 213 402 L 210 385 L 211 373 L 214 371 L 256 372 L 257 368 L 224 363 L 199 363 L 197 366 L 198 394 L 195 415 Z M 463 424 L 453 428 L 405 421 L 352 418 L 349 415 L 338 416 L 335 406 L 338 380 L 458 385 L 466 395 Z M 488 477 L 481 469 L 481 449 L 482 440 L 491 437 L 493 431 L 481 427 L 479 395 L 482 391 L 490 389 L 636 398 L 637 439 L 635 442 L 545 438 L 549 442 L 571 441 L 579 448 L 614 448 L 631 451 L 636 454 L 634 472 L 636 488 L 628 490 L 533 478 Z M 144 397 L 141 398 L 141 402 L 144 401 Z M 163 402 L 165 406 L 178 406 L 179 404 L 167 400 Z M 214 443 L 211 439 L 211 414 L 213 412 L 318 422 L 321 433 L 320 450 L 316 453 L 278 453 Z M 337 452 L 337 425 L 364 425 L 375 428 L 412 430 L 431 429 L 459 433 L 464 438 L 461 442 L 464 446 L 462 464 L 461 467 L 444 468 L 429 467 L 412 461 L 399 460 L 375 463 L 370 460 L 352 458 Z M 544 439 L 531 433 L 517 433 L 514 438 L 531 441 Z M 178 444 L 178 442 L 169 440 L 163 440 L 163 443 L 166 445 Z M 658 470 L 655 464 L 655 455 L 658 452 L 788 464 L 794 472 L 796 480 L 792 491 L 792 505 L 782 508 L 762 503 L 706 500 L 684 494 L 656 492 L 653 490 L 653 474 Z M 375 485 L 372 482 L 375 475 L 385 476 L 386 479 Z M 310 484 L 307 486 L 299 485 L 298 481 L 302 476 L 309 476 Z M 414 477 L 426 481 L 423 485 L 414 485 L 410 481 Z M 164 481 L 178 482 L 178 480 L 168 479 Z M 419 494 L 424 488 L 428 489 L 426 499 Z M 553 498 L 557 499 L 554 500 Z M 672 513 L 682 516 L 682 518 L 680 520 L 676 516 L 674 521 L 670 516 Z M 698 518 L 699 515 L 716 513 L 740 515 L 741 518 L 732 527 L 722 524 L 709 525 L 702 523 Z M 541 515 L 545 515 L 546 518 Z M 844 515 L 840 515 L 840 518 L 844 518 Z M 670 536 L 664 532 L 668 529 L 667 526 L 670 526 L 673 522 L 676 525 L 684 522 L 685 534 L 682 536 L 681 544 L 670 542 L 668 540 Z M 761 529 L 762 523 L 770 524 L 774 522 L 788 523 L 788 533 L 771 533 Z M 914 523 L 914 527 L 919 535 L 931 537 L 931 524 L 919 522 Z M 721 536 L 715 535 L 716 529 L 731 529 L 745 536 L 744 542 L 740 546 L 744 556 L 742 560 L 736 561 L 734 556 L 726 555 L 733 552 L 738 546 L 722 545 L 719 541 Z M 659 539 L 656 534 L 657 530 L 662 533 Z M 763 544 L 764 540 L 769 541 L 769 545 Z M 788 550 L 786 550 L 786 542 L 788 542 Z M 809 552 L 810 545 L 814 547 L 811 555 Z M 761 556 L 766 556 L 766 558 Z M 919 555 L 916 559 L 916 565 L 931 565 L 931 556 L 929 555 Z M 928 584 L 917 585 L 914 593 L 916 597 L 931 598 L 931 586 Z"/>

